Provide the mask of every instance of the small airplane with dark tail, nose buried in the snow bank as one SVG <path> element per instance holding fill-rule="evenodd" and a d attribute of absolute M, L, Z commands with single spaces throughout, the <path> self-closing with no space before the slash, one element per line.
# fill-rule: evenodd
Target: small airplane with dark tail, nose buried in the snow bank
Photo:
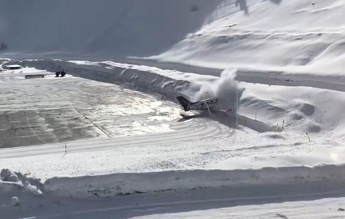
<path fill-rule="evenodd" d="M 215 107 L 218 102 L 218 99 L 215 98 L 203 99 L 194 103 L 186 99 L 184 96 L 177 96 L 176 99 L 180 102 L 186 112 L 189 110 L 210 110 L 212 107 Z"/>

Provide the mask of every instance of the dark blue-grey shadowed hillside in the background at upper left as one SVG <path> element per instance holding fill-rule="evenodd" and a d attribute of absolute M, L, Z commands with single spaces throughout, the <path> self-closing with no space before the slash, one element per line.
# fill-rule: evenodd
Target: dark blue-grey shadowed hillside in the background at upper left
<path fill-rule="evenodd" d="M 1 0 L 0 42 L 6 53 L 156 55 L 200 28 L 221 1 Z"/>

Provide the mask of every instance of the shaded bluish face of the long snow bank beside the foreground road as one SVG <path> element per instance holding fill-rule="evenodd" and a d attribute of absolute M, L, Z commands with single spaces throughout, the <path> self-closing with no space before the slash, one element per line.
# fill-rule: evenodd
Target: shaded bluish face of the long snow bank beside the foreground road
<path fill-rule="evenodd" d="M 45 181 L 43 188 L 45 192 L 58 196 L 91 197 L 219 186 L 283 185 L 322 181 L 345 181 L 345 165 L 291 166 L 256 170 L 178 170 L 54 177 Z"/>

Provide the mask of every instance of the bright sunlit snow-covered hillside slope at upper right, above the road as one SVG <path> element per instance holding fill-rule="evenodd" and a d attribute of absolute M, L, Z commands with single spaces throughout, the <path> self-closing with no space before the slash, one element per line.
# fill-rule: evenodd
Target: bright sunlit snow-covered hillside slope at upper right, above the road
<path fill-rule="evenodd" d="M 229 16 L 202 26 L 153 58 L 213 68 L 344 73 L 344 1 L 242 2 L 246 12 L 231 14 L 235 5 L 225 6 L 219 10 Z"/>

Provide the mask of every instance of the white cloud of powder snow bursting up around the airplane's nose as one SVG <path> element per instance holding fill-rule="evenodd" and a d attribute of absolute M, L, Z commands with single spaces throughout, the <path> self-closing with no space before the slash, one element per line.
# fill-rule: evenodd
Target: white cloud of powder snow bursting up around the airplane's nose
<path fill-rule="evenodd" d="M 195 99 L 202 100 L 215 97 L 218 99 L 218 110 L 237 110 L 237 103 L 239 103 L 243 90 L 239 89 L 238 83 L 235 81 L 235 71 L 226 69 L 217 81 L 203 84 L 198 93 L 195 94 Z"/>

